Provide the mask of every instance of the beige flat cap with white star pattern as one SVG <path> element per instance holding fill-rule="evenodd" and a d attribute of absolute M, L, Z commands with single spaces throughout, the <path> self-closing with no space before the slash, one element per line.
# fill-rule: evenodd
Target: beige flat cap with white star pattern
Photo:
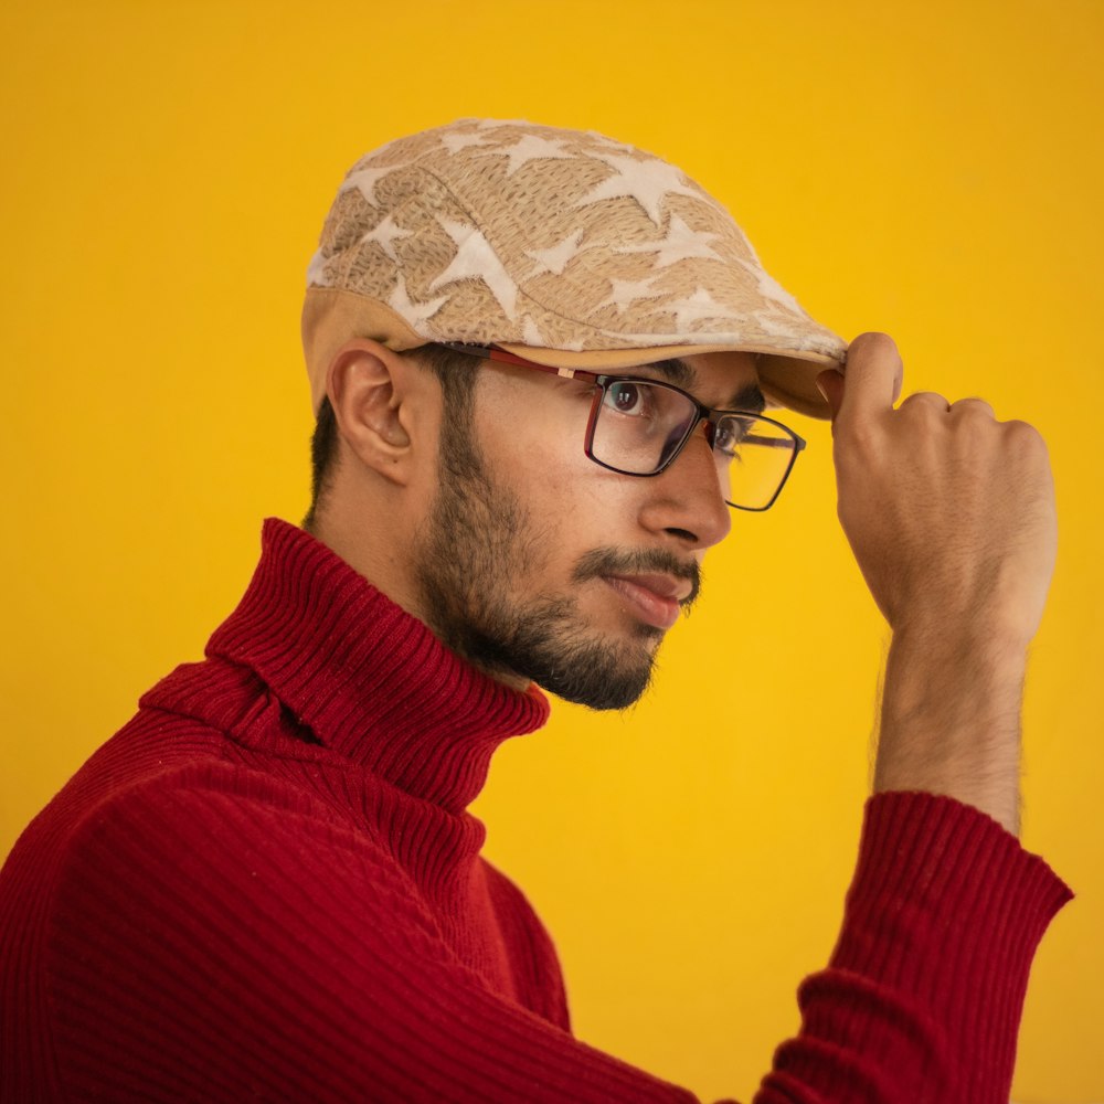
<path fill-rule="evenodd" d="M 592 370 L 742 350 L 769 399 L 816 417 L 828 408 L 814 381 L 846 349 L 675 166 L 497 119 L 400 138 L 352 167 L 310 263 L 302 337 L 316 411 L 352 337 Z"/>

